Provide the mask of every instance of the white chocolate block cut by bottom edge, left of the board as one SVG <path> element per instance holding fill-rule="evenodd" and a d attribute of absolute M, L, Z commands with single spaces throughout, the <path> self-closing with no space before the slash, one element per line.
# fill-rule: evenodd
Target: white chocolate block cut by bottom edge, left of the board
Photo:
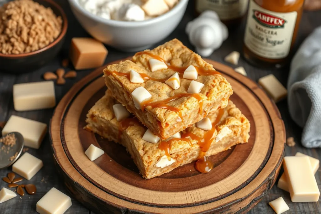
<path fill-rule="evenodd" d="M 63 214 L 71 205 L 70 197 L 53 187 L 37 202 L 37 212 L 40 214 Z"/>

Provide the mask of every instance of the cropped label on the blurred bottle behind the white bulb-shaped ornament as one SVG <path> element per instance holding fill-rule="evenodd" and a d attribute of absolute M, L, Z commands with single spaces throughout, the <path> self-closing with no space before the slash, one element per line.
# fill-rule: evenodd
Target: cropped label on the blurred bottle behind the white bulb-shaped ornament
<path fill-rule="evenodd" d="M 247 10 L 248 0 L 197 0 L 196 11 L 215 11 L 221 20 L 230 20 L 242 17 Z"/>

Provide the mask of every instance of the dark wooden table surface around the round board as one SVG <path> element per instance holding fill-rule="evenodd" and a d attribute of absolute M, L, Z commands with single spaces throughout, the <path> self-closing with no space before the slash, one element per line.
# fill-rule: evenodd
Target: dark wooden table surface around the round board
<path fill-rule="evenodd" d="M 64 59 L 68 54 L 68 49 L 70 45 L 71 38 L 73 37 L 89 37 L 85 30 L 82 29 L 78 21 L 74 18 L 69 4 L 66 0 L 57 0 L 57 2 L 64 8 L 69 21 L 69 29 L 66 36 L 66 41 L 64 44 L 64 48 L 52 62 L 43 66 L 41 69 L 19 75 L 14 76 L 10 74 L 0 73 L 0 121 L 7 121 L 11 115 L 18 115 L 26 118 L 30 118 L 33 120 L 37 120 L 46 124 L 49 124 L 49 120 L 53 114 L 54 109 L 47 110 L 38 110 L 38 111 L 28 111 L 28 112 L 16 112 L 13 108 L 13 98 L 12 98 L 12 86 L 16 83 L 25 83 L 25 82 L 35 82 L 35 81 L 43 81 L 42 74 L 47 71 L 55 71 L 60 67 L 61 60 Z M 193 5 L 190 2 L 187 12 L 178 28 L 164 41 L 161 41 L 159 44 L 164 43 L 173 38 L 178 38 L 181 40 L 187 47 L 194 50 L 194 47 L 188 41 L 187 35 L 185 34 L 185 26 L 188 21 L 194 18 L 194 9 Z M 299 35 L 296 42 L 295 50 L 299 47 L 299 44 L 317 27 L 321 25 L 321 11 L 315 12 L 304 12 L 300 24 Z M 216 50 L 210 57 L 218 62 L 223 61 L 223 57 L 229 54 L 231 51 L 239 51 L 242 53 L 242 45 L 243 45 L 243 35 L 244 35 L 244 27 L 245 23 L 238 26 L 235 29 L 230 30 L 229 38 L 223 43 L 223 45 Z M 155 46 L 159 45 L 156 44 Z M 127 56 L 132 56 L 133 53 L 125 53 L 115 50 L 111 47 L 107 47 L 109 54 L 106 59 L 106 63 L 125 58 Z M 243 58 L 240 59 L 239 64 L 237 66 L 243 66 L 247 71 L 248 76 L 257 81 L 260 77 L 265 76 L 267 74 L 273 73 L 283 85 L 286 85 L 287 77 L 289 73 L 289 67 L 285 67 L 282 69 L 265 69 L 265 68 L 257 68 L 248 64 Z M 232 66 L 236 67 L 236 66 Z M 23 68 L 21 68 L 23 69 Z M 73 69 L 72 66 L 69 66 L 69 69 Z M 67 69 L 67 70 L 69 70 Z M 1 71 L 1 68 L 0 68 Z M 63 86 L 55 86 L 56 91 L 56 100 L 59 100 L 64 96 L 64 94 L 73 86 L 74 83 L 79 81 L 82 77 L 86 76 L 92 70 L 79 71 L 77 78 L 74 80 L 67 79 L 66 84 Z M 286 100 L 283 100 L 277 104 L 282 118 L 284 120 L 286 134 L 287 137 L 293 136 L 297 144 L 294 147 L 287 147 L 285 150 L 285 155 L 290 156 L 294 155 L 297 151 L 302 152 L 304 154 L 310 155 L 314 158 L 320 158 L 321 149 L 306 149 L 301 146 L 301 132 L 302 129 L 297 126 L 290 118 L 288 112 L 288 106 Z M 40 158 L 44 167 L 35 175 L 30 181 L 23 180 L 22 184 L 36 184 L 37 193 L 35 195 L 25 195 L 24 197 L 16 197 L 10 201 L 0 204 L 0 213 L 1 214 L 30 214 L 37 213 L 36 212 L 36 203 L 39 199 L 47 193 L 52 187 L 57 188 L 58 190 L 69 194 L 62 181 L 57 177 L 56 171 L 53 166 L 53 156 L 50 149 L 49 136 L 46 135 L 44 141 L 42 142 L 41 147 L 38 150 L 30 149 L 32 155 Z M 0 177 L 4 177 L 8 172 L 11 171 L 11 168 L 0 170 Z M 319 189 L 321 188 L 321 170 L 319 169 L 316 173 L 317 183 Z M 2 180 L 0 181 L 0 188 L 7 186 Z M 271 192 L 261 201 L 259 202 L 253 210 L 249 213 L 274 213 L 271 207 L 268 205 L 269 201 L 272 201 L 278 197 L 282 196 L 284 200 L 290 207 L 290 211 L 286 213 L 321 213 L 321 203 L 320 199 L 318 202 L 314 203 L 292 203 L 290 199 L 289 193 L 279 189 L 276 185 L 273 186 Z M 66 211 L 66 214 L 71 213 L 79 213 L 79 214 L 88 214 L 92 213 L 90 210 L 86 209 L 82 204 L 72 198 L 73 205 L 72 207 Z"/>

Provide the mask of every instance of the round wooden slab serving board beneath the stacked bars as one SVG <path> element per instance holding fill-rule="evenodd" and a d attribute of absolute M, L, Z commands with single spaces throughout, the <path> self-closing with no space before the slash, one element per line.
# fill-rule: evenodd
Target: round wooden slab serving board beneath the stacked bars
<path fill-rule="evenodd" d="M 230 99 L 251 123 L 249 142 L 211 156 L 210 173 L 190 163 L 146 180 L 125 148 L 83 129 L 88 110 L 107 89 L 99 68 L 62 98 L 50 123 L 56 167 L 77 200 L 96 213 L 246 213 L 269 192 L 285 147 L 280 113 L 255 82 L 207 62 L 232 85 Z M 90 144 L 105 154 L 90 161 L 84 154 Z"/>

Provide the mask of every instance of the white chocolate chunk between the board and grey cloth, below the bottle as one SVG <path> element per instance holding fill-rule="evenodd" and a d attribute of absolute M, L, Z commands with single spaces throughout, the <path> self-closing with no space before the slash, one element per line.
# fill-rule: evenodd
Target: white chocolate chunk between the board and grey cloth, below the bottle
<path fill-rule="evenodd" d="M 274 102 L 278 102 L 285 98 L 288 91 L 279 82 L 273 74 L 269 74 L 259 79 L 259 84 L 263 87 L 266 93 L 273 98 Z"/>

